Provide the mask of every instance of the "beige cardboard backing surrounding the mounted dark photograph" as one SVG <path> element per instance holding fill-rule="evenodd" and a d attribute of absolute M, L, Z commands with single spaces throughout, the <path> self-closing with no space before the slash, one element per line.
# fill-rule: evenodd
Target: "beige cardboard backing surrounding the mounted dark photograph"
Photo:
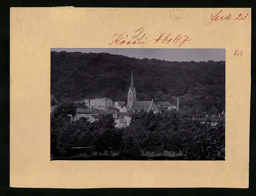
<path fill-rule="evenodd" d="M 248 187 L 251 9 L 11 8 L 11 187 Z M 51 48 L 109 46 L 112 35 L 187 35 L 182 48 L 226 49 L 226 161 L 50 161 Z M 242 50 L 242 56 L 233 56 Z"/>

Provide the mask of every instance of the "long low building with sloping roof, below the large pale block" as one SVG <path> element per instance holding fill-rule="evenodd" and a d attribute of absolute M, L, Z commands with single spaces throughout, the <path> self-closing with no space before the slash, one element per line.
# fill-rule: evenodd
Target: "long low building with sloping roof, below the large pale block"
<path fill-rule="evenodd" d="M 100 112 L 94 108 L 77 108 L 74 121 L 84 117 L 87 119 L 87 121 L 94 122 L 100 118 L 100 115 L 101 115 Z"/>

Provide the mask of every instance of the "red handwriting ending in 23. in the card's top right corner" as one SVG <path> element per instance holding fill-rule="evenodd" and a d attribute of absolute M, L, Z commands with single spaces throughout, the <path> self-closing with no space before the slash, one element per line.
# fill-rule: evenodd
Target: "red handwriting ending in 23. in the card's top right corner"
<path fill-rule="evenodd" d="M 246 18 L 249 19 L 249 14 L 242 14 L 232 17 L 231 14 L 223 14 L 223 10 L 219 11 L 217 14 L 211 14 L 210 15 L 210 22 L 207 24 L 211 24 L 214 21 L 222 21 L 222 20 L 245 20 Z"/>

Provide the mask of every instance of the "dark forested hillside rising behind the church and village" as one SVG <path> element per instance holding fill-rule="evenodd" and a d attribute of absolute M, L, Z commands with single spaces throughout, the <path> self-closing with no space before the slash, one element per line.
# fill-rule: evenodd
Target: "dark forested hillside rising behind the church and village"
<path fill-rule="evenodd" d="M 133 70 L 137 100 L 175 101 L 186 116 L 225 110 L 225 61 L 137 59 L 109 53 L 51 52 L 51 95 L 127 100 Z"/>

